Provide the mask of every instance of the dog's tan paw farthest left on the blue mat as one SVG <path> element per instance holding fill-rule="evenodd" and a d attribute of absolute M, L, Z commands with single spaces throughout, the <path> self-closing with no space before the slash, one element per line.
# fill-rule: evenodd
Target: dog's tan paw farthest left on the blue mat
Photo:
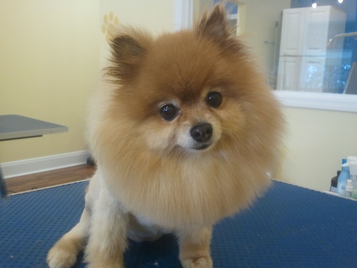
<path fill-rule="evenodd" d="M 56 245 L 47 254 L 47 264 L 49 268 L 69 268 L 77 261 L 77 252 Z"/>

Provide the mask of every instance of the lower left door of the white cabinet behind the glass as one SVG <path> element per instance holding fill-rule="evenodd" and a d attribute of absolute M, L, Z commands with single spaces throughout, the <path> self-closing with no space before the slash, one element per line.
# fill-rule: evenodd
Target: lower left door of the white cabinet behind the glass
<path fill-rule="evenodd" d="M 280 57 L 277 90 L 298 91 L 300 88 L 300 57 Z"/>

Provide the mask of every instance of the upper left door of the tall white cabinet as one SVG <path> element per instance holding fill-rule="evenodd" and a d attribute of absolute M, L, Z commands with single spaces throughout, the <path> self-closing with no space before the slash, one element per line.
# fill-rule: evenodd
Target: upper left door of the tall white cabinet
<path fill-rule="evenodd" d="M 283 10 L 282 38 L 279 55 L 301 55 L 303 23 L 304 8 Z"/>

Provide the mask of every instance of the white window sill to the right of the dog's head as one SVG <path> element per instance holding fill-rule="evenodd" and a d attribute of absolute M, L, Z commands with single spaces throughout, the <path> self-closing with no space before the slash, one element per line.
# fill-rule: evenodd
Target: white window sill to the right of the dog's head
<path fill-rule="evenodd" d="M 357 112 L 357 95 L 274 90 L 285 106 Z"/>

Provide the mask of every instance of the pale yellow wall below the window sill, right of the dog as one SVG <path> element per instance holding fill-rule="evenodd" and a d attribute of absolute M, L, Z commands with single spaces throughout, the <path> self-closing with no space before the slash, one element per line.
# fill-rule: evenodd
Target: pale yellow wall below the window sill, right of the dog
<path fill-rule="evenodd" d="M 287 149 L 278 179 L 328 190 L 342 158 L 357 155 L 357 113 L 289 107 L 283 111 Z"/>

